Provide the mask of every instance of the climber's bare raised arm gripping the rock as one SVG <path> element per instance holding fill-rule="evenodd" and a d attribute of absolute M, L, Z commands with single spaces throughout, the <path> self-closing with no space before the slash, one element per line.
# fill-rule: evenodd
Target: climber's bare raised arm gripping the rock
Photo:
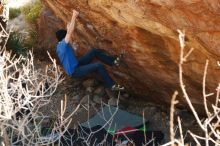
<path fill-rule="evenodd" d="M 71 40 L 71 35 L 74 35 L 74 28 L 75 28 L 75 23 L 76 23 L 76 18 L 79 15 L 79 12 L 76 10 L 73 10 L 73 15 L 71 18 L 70 24 L 67 25 L 67 34 L 65 37 L 65 42 L 69 43 Z"/>

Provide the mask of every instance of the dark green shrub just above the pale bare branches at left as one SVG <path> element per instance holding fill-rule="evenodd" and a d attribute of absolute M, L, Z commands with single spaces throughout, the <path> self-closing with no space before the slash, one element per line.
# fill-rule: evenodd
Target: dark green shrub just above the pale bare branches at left
<path fill-rule="evenodd" d="M 27 46 L 25 46 L 24 37 L 18 31 L 10 33 L 6 48 L 11 50 L 14 54 L 18 56 L 26 56 L 27 54 Z"/>

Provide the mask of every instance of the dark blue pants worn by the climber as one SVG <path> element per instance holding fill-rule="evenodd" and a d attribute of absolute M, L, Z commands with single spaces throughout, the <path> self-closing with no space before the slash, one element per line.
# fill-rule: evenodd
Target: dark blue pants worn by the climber
<path fill-rule="evenodd" d="M 107 88 L 111 88 L 114 85 L 114 81 L 109 76 L 104 65 L 98 61 L 91 63 L 94 58 L 102 61 L 103 63 L 112 66 L 115 58 L 105 54 L 104 52 L 92 49 L 87 54 L 79 58 L 79 64 L 76 67 L 72 77 L 82 77 L 92 72 L 97 72 L 103 79 Z"/>

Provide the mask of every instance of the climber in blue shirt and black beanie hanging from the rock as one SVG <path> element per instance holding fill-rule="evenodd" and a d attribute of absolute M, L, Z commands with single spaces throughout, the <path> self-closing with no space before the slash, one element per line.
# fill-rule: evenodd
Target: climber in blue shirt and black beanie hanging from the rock
<path fill-rule="evenodd" d="M 56 53 L 65 70 L 71 77 L 82 77 L 92 72 L 97 72 L 104 81 L 105 87 L 111 90 L 123 90 L 124 87 L 116 85 L 109 76 L 104 65 L 100 62 L 113 66 L 119 65 L 121 57 L 112 57 L 98 49 L 91 49 L 87 54 L 77 59 L 75 56 L 76 47 L 71 46 L 71 36 L 74 37 L 76 18 L 79 12 L 73 10 L 71 22 L 67 25 L 67 30 L 61 29 L 56 32 L 58 40 Z M 98 62 L 91 63 L 94 58 Z"/>

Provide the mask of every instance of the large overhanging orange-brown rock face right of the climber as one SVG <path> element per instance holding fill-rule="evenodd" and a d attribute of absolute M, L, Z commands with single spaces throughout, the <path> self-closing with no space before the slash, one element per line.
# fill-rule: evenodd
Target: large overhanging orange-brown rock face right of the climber
<path fill-rule="evenodd" d="M 207 91 L 220 76 L 220 2 L 218 0 L 44 0 L 63 22 L 80 11 L 77 41 L 80 54 L 98 47 L 110 54 L 125 51 L 124 64 L 112 76 L 129 91 L 159 103 L 170 103 L 179 90 L 177 29 L 186 32 L 186 48 L 195 48 L 184 65 L 184 81 L 195 105 L 202 104 L 202 77 L 210 61 Z M 185 100 L 179 97 L 181 103 Z M 210 97 L 210 100 L 213 100 Z"/>

